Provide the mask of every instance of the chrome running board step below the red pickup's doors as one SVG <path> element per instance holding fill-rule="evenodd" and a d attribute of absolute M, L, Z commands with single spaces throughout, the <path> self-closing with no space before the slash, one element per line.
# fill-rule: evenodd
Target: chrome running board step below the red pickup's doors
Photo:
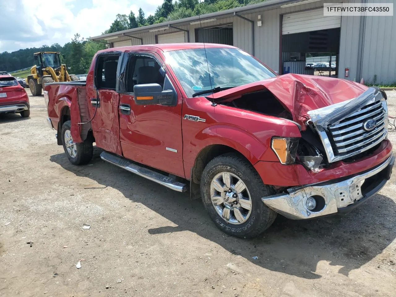
<path fill-rule="evenodd" d="M 155 181 L 156 183 L 163 185 L 167 188 L 170 188 L 172 190 L 175 190 L 177 192 L 186 192 L 187 191 L 187 185 L 183 183 L 179 183 L 178 181 L 175 181 L 175 179 L 163 175 L 161 173 L 158 173 L 156 171 L 153 171 L 151 169 L 141 167 L 131 161 L 129 161 L 126 158 L 122 158 L 119 156 L 115 156 L 113 154 L 110 154 L 109 152 L 102 152 L 100 154 L 100 157 L 102 160 L 107 161 L 113 165 L 116 165 L 118 167 L 121 167 L 125 170 L 128 170 L 129 172 L 135 173 L 141 177 L 145 177 L 149 179 L 150 181 Z"/>

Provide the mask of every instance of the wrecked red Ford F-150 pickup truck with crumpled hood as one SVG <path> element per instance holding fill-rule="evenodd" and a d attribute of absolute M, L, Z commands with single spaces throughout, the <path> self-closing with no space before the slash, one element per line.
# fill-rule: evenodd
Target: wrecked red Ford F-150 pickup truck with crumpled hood
<path fill-rule="evenodd" d="M 280 213 L 347 213 L 390 178 L 381 89 L 274 71 L 223 44 L 99 51 L 86 82 L 46 84 L 48 123 L 74 165 L 101 158 L 191 198 L 238 237 Z"/>

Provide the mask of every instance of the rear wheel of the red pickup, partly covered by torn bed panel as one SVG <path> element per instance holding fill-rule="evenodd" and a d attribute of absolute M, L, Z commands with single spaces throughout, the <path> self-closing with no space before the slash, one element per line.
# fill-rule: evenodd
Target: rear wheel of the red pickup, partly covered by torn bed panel
<path fill-rule="evenodd" d="M 74 143 L 70 133 L 71 122 L 63 123 L 61 129 L 61 137 L 63 149 L 70 163 L 73 165 L 88 164 L 92 159 L 93 145 L 92 142 L 86 139 L 82 143 Z"/>

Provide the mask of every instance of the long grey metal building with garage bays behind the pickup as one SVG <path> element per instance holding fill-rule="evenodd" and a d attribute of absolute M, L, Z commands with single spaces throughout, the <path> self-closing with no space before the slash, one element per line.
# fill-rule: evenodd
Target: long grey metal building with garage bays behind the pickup
<path fill-rule="evenodd" d="M 323 15 L 324 3 L 365 1 L 268 0 L 200 18 L 188 17 L 95 36 L 91 40 L 105 41 L 109 47 L 173 42 L 230 44 L 251 53 L 280 74 L 313 74 L 305 67 L 306 54 L 328 53 L 329 57 L 336 57 L 330 61 L 336 65 L 333 76 L 391 84 L 396 82 L 396 17 Z"/>

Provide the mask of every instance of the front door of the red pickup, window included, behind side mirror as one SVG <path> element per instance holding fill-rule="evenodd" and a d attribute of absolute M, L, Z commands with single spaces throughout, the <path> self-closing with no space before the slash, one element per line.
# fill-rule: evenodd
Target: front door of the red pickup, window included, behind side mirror
<path fill-rule="evenodd" d="M 120 143 L 128 159 L 185 177 L 182 159 L 181 94 L 175 106 L 135 105 L 135 84 L 175 83 L 166 75 L 158 56 L 130 53 L 124 69 L 124 91 L 120 90 Z"/>

